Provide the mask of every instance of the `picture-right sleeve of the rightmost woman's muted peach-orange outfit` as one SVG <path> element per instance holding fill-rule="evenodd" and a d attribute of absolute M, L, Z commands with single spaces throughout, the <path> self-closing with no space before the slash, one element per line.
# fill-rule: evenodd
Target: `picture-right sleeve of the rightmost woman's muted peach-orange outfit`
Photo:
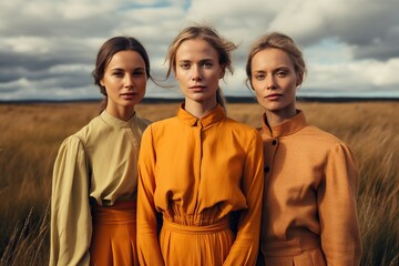
<path fill-rule="evenodd" d="M 346 144 L 337 143 L 330 149 L 325 163 L 317 202 L 321 248 L 327 265 L 359 265 L 358 170 L 352 153 Z"/>

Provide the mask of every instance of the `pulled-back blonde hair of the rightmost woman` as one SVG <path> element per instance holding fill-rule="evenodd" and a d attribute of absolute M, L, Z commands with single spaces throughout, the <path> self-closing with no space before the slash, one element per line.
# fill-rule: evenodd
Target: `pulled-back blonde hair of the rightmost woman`
<path fill-rule="evenodd" d="M 262 35 L 250 48 L 247 64 L 246 64 L 246 74 L 247 74 L 247 83 L 250 83 L 250 73 L 252 73 L 252 60 L 256 53 L 260 52 L 262 50 L 275 48 L 283 50 L 288 54 L 290 60 L 293 61 L 295 72 L 300 76 L 300 82 L 298 85 L 301 84 L 304 76 L 307 73 L 304 55 L 298 48 L 298 45 L 294 42 L 294 40 L 283 33 L 279 32 L 272 32 L 269 34 Z"/>

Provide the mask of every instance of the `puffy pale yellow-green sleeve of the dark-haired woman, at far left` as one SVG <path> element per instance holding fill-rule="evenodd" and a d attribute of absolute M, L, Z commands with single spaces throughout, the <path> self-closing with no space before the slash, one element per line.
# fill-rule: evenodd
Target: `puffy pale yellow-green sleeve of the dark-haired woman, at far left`
<path fill-rule="evenodd" d="M 50 265 L 89 265 L 92 218 L 83 143 L 68 137 L 53 168 Z"/>

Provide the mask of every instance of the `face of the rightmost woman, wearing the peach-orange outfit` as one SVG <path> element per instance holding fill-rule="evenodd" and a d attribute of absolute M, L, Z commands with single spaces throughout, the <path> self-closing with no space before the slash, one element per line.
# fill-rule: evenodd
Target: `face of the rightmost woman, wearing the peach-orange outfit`
<path fill-rule="evenodd" d="M 268 48 L 254 55 L 250 66 L 250 83 L 265 111 L 283 119 L 295 115 L 295 98 L 300 76 L 295 72 L 288 54 L 280 49 Z"/>

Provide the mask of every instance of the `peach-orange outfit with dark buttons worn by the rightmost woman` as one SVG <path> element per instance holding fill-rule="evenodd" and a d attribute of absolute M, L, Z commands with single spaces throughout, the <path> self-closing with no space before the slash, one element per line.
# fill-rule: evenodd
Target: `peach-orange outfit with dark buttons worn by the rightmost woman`
<path fill-rule="evenodd" d="M 301 111 L 269 129 L 263 116 L 260 250 L 267 266 L 359 265 L 358 170 L 349 147 Z M 266 123 L 265 123 L 266 122 Z"/>

